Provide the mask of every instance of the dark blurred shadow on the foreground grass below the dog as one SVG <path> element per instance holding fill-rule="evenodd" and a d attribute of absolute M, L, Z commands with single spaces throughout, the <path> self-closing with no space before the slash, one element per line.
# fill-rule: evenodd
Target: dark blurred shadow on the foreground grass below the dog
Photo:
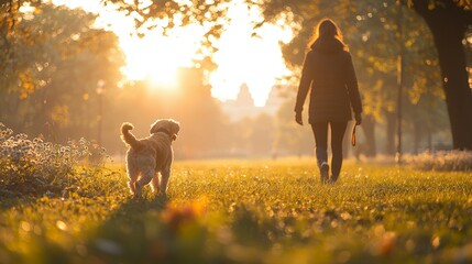
<path fill-rule="evenodd" d="M 208 263 L 207 235 L 191 207 L 173 207 L 167 197 L 130 199 L 90 237 L 85 261 Z"/>

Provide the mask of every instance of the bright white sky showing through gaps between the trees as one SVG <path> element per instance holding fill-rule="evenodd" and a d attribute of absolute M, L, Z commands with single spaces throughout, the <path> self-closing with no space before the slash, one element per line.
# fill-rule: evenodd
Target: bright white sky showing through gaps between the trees
<path fill-rule="evenodd" d="M 162 28 L 157 26 L 139 38 L 132 35 L 132 19 L 124 18 L 111 8 L 101 7 L 98 0 L 53 2 L 98 13 L 97 24 L 113 31 L 119 37 L 127 59 L 127 65 L 122 68 L 127 78 L 146 79 L 168 89 L 176 82 L 177 68 L 194 66 L 193 59 L 198 56 L 197 51 L 205 34 L 201 25 L 190 24 L 176 28 L 168 36 L 163 36 Z M 261 21 L 261 11 L 256 8 L 249 9 L 242 0 L 233 1 L 228 15 L 231 23 L 217 42 L 218 52 L 212 56 L 217 68 L 208 75 L 211 95 L 222 101 L 234 100 L 240 87 L 246 84 L 254 105 L 263 107 L 277 79 L 290 75 L 279 43 L 288 43 L 294 32 L 281 20 L 275 24 L 263 24 L 256 31 L 257 36 L 254 36 L 251 22 Z"/>

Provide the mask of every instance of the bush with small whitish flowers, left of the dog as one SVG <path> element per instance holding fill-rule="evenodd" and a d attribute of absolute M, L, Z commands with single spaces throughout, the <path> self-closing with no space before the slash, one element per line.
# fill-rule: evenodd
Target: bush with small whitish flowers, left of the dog
<path fill-rule="evenodd" d="M 0 123 L 0 197 L 58 193 L 77 175 L 79 162 L 105 161 L 102 147 L 85 139 L 67 145 L 29 140 Z"/>

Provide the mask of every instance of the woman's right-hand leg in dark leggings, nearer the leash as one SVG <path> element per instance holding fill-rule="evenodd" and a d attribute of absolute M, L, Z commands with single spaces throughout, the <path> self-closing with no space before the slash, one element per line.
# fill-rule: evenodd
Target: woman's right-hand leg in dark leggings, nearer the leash
<path fill-rule="evenodd" d="M 342 139 L 344 138 L 348 122 L 331 122 L 331 180 L 336 182 L 342 166 Z"/>

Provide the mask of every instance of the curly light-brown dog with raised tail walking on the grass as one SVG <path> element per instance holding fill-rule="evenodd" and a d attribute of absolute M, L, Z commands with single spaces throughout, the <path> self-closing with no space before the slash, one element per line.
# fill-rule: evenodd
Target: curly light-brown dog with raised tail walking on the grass
<path fill-rule="evenodd" d="M 127 172 L 131 193 L 135 198 L 141 197 L 143 187 L 152 182 L 154 193 L 165 195 L 174 160 L 172 142 L 177 139 L 180 125 L 172 119 L 157 120 L 151 125 L 151 135 L 141 140 L 130 132 L 132 129 L 131 123 L 121 125 L 121 139 L 130 146 Z"/>

